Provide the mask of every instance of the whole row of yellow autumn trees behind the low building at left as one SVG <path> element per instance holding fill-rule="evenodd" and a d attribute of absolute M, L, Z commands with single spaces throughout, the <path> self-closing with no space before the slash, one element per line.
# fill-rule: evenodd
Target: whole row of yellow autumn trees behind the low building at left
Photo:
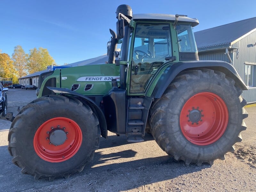
<path fill-rule="evenodd" d="M 12 57 L 0 50 L 0 78 L 12 78 L 13 83 L 18 83 L 18 78 L 28 74 L 42 71 L 55 61 L 47 49 L 39 47 L 30 49 L 25 53 L 20 45 L 14 47 Z"/>

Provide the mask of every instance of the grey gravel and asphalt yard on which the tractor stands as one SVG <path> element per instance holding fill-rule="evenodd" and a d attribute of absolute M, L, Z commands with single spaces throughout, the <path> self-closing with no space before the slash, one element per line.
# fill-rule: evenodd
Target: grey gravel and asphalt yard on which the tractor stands
<path fill-rule="evenodd" d="M 9 90 L 8 112 L 36 99 L 35 90 Z M 0 191 L 256 191 L 256 106 L 246 107 L 249 117 L 243 141 L 235 153 L 213 165 L 185 165 L 162 151 L 150 135 L 145 142 L 128 143 L 125 136 L 108 133 L 84 171 L 68 179 L 34 180 L 12 164 L 7 150 L 11 123 L 0 119 Z"/>

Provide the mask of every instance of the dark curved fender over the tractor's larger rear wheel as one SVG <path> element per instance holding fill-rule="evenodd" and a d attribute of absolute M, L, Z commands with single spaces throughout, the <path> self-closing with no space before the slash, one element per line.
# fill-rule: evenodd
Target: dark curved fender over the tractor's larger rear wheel
<path fill-rule="evenodd" d="M 220 71 L 224 73 L 226 76 L 234 79 L 235 85 L 237 87 L 239 87 L 242 90 L 247 90 L 246 85 L 236 72 L 236 69 L 227 62 L 215 60 L 181 61 L 177 63 L 172 63 L 164 70 L 162 76 L 159 79 L 155 79 L 157 83 L 151 94 L 151 97 L 161 98 L 165 89 L 181 71 L 199 68 L 207 68 Z"/>

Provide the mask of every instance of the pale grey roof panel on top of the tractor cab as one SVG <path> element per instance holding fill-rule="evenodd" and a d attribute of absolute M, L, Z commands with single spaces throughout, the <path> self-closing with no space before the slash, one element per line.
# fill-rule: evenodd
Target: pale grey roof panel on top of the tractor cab
<path fill-rule="evenodd" d="M 142 13 L 142 14 L 133 14 L 132 15 L 132 20 L 171 20 L 175 21 L 175 15 L 169 15 L 169 14 L 159 14 L 159 13 Z M 178 23 L 179 21 L 181 22 L 186 22 L 186 23 L 191 23 L 192 27 L 195 27 L 196 25 L 199 24 L 199 21 L 194 18 L 191 19 L 189 17 L 178 17 Z"/>

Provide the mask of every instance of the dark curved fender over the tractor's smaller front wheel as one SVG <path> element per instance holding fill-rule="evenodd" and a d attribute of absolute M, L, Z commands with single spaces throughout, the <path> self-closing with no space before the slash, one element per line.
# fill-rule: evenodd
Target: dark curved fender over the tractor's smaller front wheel
<path fill-rule="evenodd" d="M 51 91 L 55 92 L 55 93 L 60 93 L 61 95 L 73 95 L 73 96 L 81 98 L 82 102 L 86 101 L 87 104 L 90 105 L 92 111 L 96 114 L 96 116 L 99 119 L 101 136 L 106 138 L 106 139 L 108 138 L 106 118 L 105 118 L 104 113 L 101 110 L 101 108 L 98 107 L 98 105 L 93 100 L 91 100 L 90 98 L 88 98 L 84 95 L 81 95 L 77 92 L 73 92 L 69 89 L 57 88 L 57 87 L 47 87 L 47 88 L 50 89 Z"/>

